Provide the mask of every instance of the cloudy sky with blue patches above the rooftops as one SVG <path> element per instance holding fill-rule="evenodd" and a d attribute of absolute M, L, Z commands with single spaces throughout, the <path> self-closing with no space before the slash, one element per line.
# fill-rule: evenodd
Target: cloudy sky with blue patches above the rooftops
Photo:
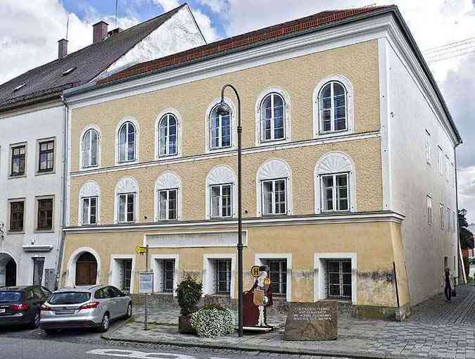
<path fill-rule="evenodd" d="M 475 37 L 475 0 L 189 0 L 208 42 L 333 8 L 396 4 L 422 51 Z M 118 0 L 130 27 L 183 0 Z M 0 83 L 54 60 L 66 35 L 70 52 L 91 43 L 91 24 L 115 24 L 115 0 L 0 0 Z M 473 44 L 471 44 L 473 42 Z M 475 52 L 475 39 L 468 42 Z M 470 46 L 472 46 L 470 48 Z M 446 53 L 448 56 L 457 53 Z M 429 59 L 429 56 L 427 57 Z M 464 144 L 457 149 L 460 208 L 475 222 L 475 53 L 429 63 Z"/>

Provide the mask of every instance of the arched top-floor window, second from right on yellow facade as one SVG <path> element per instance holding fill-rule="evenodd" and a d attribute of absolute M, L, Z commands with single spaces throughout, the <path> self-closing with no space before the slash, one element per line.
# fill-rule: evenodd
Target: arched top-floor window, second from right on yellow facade
<path fill-rule="evenodd" d="M 274 141 L 285 138 L 285 101 L 281 95 L 272 93 L 260 103 L 260 139 Z"/>

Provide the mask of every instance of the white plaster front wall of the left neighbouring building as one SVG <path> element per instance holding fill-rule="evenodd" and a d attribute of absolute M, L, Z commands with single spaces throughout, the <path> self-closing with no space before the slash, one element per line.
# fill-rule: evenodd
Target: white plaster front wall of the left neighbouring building
<path fill-rule="evenodd" d="M 61 239 L 61 209 L 63 207 L 63 105 L 60 102 L 28 112 L 17 111 L 0 115 L 0 222 L 5 225 L 5 238 L 0 243 L 0 277 L 5 275 L 7 256 L 15 260 L 16 284 L 32 284 L 33 259 L 44 258 L 44 270 L 56 272 L 58 245 Z M 19 130 L 21 129 L 21 130 Z M 40 139 L 54 138 L 54 168 L 47 174 L 37 173 Z M 11 177 L 11 145 L 26 144 L 25 176 Z M 53 196 L 53 229 L 37 231 L 37 197 Z M 23 232 L 12 233 L 9 200 L 24 199 Z M 7 254 L 8 253 L 8 254 Z M 43 275 L 43 284 L 45 284 Z M 0 283 L 4 282 L 0 278 Z M 50 284 L 51 285 L 51 284 Z"/>

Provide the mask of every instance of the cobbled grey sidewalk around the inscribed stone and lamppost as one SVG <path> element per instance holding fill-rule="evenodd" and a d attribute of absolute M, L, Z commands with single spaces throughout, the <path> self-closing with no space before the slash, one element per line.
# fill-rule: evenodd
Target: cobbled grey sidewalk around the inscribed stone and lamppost
<path fill-rule="evenodd" d="M 275 332 L 237 334 L 217 339 L 178 334 L 178 310 L 154 311 L 149 330 L 144 332 L 143 316 L 103 335 L 104 339 L 140 341 L 175 346 L 234 349 L 253 352 L 300 355 L 343 355 L 360 358 L 474 358 L 475 286 L 457 287 L 457 297 L 445 303 L 436 296 L 413 309 L 406 322 L 359 320 L 338 317 L 336 341 L 284 341 L 284 317 L 272 318 Z"/>

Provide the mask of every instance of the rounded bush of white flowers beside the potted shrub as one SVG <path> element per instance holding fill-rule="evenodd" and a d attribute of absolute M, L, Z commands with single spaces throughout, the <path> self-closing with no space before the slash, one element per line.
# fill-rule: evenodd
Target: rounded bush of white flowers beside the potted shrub
<path fill-rule="evenodd" d="M 205 306 L 191 315 L 191 327 L 202 338 L 216 338 L 234 332 L 232 312 L 218 306 Z"/>

